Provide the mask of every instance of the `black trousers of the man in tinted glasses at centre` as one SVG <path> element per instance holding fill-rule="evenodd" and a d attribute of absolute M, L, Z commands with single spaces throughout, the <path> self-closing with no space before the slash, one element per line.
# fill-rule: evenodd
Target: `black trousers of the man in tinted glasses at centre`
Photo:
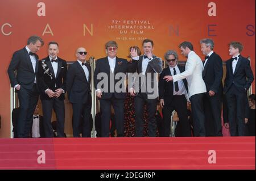
<path fill-rule="evenodd" d="M 123 108 L 125 99 L 117 99 L 113 95 L 110 99 L 100 99 L 101 109 L 101 137 L 109 137 L 111 105 L 114 108 L 115 127 L 117 128 L 117 137 L 123 137 Z"/>

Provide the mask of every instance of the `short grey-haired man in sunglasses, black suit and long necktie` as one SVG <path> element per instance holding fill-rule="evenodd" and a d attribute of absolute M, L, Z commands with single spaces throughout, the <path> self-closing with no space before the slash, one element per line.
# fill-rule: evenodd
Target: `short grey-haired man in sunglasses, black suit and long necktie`
<path fill-rule="evenodd" d="M 165 81 L 166 75 L 182 73 L 184 66 L 177 65 L 178 56 L 174 50 L 168 50 L 164 54 L 167 68 L 163 69 L 159 78 L 159 99 L 160 106 L 163 108 L 164 136 L 170 136 L 170 122 L 172 111 L 176 111 L 180 121 L 181 136 L 191 136 L 191 129 L 187 116 L 187 79 L 180 81 Z"/>

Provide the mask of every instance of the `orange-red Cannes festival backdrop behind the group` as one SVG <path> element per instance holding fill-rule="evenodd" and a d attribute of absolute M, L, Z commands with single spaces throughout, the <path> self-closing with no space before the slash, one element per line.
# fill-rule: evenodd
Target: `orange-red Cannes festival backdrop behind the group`
<path fill-rule="evenodd" d="M 244 45 L 242 55 L 251 57 L 255 77 L 255 0 L 215 0 L 216 14 L 206 0 L 44 0 L 43 5 L 40 2 L 0 2 L 0 137 L 10 137 L 7 68 L 13 52 L 23 48 L 31 35 L 43 37 L 46 44 L 57 41 L 59 56 L 67 61 L 75 60 L 78 47 L 88 50 L 88 58 L 103 57 L 104 45 L 109 40 L 117 41 L 118 56 L 126 57 L 129 47 L 142 47 L 145 38 L 154 40 L 154 53 L 159 57 L 174 49 L 184 60 L 177 46 L 182 41 L 191 41 L 195 52 L 203 58 L 199 41 L 205 37 L 212 38 L 214 51 L 228 60 L 228 43 L 236 40 Z M 45 45 L 39 57 L 46 56 Z"/>

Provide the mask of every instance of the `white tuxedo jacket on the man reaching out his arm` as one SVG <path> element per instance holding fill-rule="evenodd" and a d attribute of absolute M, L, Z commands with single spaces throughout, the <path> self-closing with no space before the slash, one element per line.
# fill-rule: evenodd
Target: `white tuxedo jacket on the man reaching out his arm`
<path fill-rule="evenodd" d="M 185 71 L 176 74 L 173 77 L 174 82 L 187 78 L 188 97 L 206 92 L 206 86 L 202 77 L 203 62 L 201 58 L 193 51 L 188 53 L 188 60 L 185 65 Z"/>

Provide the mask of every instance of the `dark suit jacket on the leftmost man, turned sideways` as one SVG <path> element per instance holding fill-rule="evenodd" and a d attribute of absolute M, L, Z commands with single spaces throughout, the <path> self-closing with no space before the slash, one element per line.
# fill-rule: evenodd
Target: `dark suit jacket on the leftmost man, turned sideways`
<path fill-rule="evenodd" d="M 38 60 L 38 55 L 35 54 L 35 59 Z M 14 71 L 16 70 L 16 75 Z M 19 84 L 25 89 L 32 89 L 35 81 L 35 74 L 38 71 L 38 61 L 36 61 L 35 71 L 30 60 L 30 56 L 26 48 L 14 52 L 8 68 L 8 75 L 11 82 L 11 87 Z"/>

